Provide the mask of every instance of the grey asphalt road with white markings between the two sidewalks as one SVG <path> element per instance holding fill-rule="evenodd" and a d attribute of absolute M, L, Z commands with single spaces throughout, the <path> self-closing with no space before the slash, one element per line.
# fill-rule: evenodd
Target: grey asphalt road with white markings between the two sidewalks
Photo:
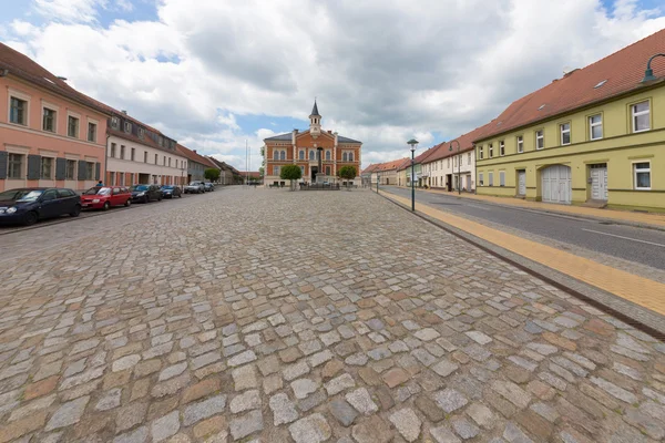
<path fill-rule="evenodd" d="M 411 189 L 383 186 L 396 195 L 411 196 Z M 532 209 L 502 207 L 452 195 L 416 190 L 416 202 L 453 214 L 469 215 L 606 254 L 624 260 L 665 269 L 665 233 L 631 226 L 607 225 L 605 222 L 582 219 L 565 215 L 539 213 Z"/>

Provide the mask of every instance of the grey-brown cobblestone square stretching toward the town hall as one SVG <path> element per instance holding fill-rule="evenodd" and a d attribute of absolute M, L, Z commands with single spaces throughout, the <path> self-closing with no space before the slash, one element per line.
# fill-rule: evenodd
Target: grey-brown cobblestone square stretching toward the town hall
<path fill-rule="evenodd" d="M 665 436 L 664 343 L 382 198 L 200 202 L 2 262 L 0 443 Z"/>

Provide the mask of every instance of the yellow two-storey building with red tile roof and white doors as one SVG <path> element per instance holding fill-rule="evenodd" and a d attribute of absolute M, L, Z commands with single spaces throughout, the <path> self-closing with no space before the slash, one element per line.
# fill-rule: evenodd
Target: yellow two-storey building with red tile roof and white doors
<path fill-rule="evenodd" d="M 662 30 L 513 102 L 474 141 L 478 194 L 665 210 L 664 50 Z"/>

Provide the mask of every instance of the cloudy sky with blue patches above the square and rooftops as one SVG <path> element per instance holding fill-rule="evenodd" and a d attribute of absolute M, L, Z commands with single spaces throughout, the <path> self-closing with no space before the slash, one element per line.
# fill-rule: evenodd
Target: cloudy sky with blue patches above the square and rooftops
<path fill-rule="evenodd" d="M 254 171 L 315 96 L 367 166 L 663 28 L 661 0 L 0 0 L 0 41 L 241 169 L 247 141 Z"/>

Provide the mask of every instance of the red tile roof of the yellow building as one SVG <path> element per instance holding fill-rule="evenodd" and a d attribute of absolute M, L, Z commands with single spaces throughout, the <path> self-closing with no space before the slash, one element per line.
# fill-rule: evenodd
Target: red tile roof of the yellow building
<path fill-rule="evenodd" d="M 641 83 L 646 62 L 652 55 L 664 51 L 665 29 L 514 101 L 481 136 L 488 138 L 623 93 L 647 87 L 652 82 Z M 653 83 L 665 82 L 665 58 L 654 59 L 652 69 L 654 75 L 658 78 Z M 603 81 L 605 83 L 601 84 Z M 478 140 L 482 138 L 478 136 L 474 141 Z"/>

